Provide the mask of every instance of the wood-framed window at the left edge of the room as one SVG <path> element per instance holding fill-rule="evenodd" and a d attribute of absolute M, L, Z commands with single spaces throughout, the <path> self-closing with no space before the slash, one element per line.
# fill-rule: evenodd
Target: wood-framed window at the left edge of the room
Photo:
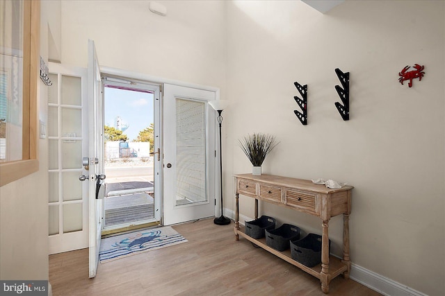
<path fill-rule="evenodd" d="M 40 1 L 0 2 L 0 186 L 38 171 Z"/>

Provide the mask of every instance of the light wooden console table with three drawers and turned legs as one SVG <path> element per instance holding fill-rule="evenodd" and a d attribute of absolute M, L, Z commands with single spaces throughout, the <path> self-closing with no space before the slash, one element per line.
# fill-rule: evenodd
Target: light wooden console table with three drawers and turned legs
<path fill-rule="evenodd" d="M 351 191 L 353 186 L 343 186 L 341 189 L 329 189 L 325 185 L 314 184 L 311 180 L 300 180 L 275 175 L 235 175 L 236 181 L 236 212 L 235 236 L 243 236 L 264 250 L 279 256 L 281 259 L 297 266 L 317 277 L 321 281 L 321 290 L 329 293 L 329 283 L 334 277 L 343 275 L 349 278 L 349 214 Z M 308 268 L 291 258 L 290 250 L 280 252 L 266 245 L 266 240 L 254 239 L 245 234 L 239 226 L 239 195 L 255 199 L 254 214 L 258 218 L 258 200 L 277 204 L 295 211 L 318 216 L 322 222 L 321 264 Z M 343 214 L 343 260 L 329 255 L 329 220 L 331 217 Z"/>

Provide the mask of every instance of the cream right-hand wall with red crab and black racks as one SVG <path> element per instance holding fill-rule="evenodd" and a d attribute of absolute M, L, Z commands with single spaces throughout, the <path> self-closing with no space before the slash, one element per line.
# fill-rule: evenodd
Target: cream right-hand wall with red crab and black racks
<path fill-rule="evenodd" d="M 227 4 L 225 204 L 232 175 L 250 173 L 238 139 L 274 134 L 281 143 L 263 172 L 323 177 L 355 186 L 353 263 L 428 295 L 445 289 L 445 123 L 443 1 L 346 1 L 326 15 L 300 1 Z M 425 65 L 412 88 L 406 65 Z M 334 69 L 350 72 L 350 121 L 334 107 Z M 308 85 L 308 122 L 293 82 Z M 241 198 L 241 214 L 253 203 Z M 321 233 L 317 218 L 275 206 L 262 213 Z M 341 254 L 341 218 L 330 238 Z"/>

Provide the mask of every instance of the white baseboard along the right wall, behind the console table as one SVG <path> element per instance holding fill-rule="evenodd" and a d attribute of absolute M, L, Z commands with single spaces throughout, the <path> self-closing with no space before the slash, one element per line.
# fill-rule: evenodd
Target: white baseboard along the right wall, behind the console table
<path fill-rule="evenodd" d="M 226 217 L 235 219 L 235 212 L 231 209 L 224 209 L 224 215 Z M 240 215 L 240 220 L 253 220 L 253 218 Z M 241 223 L 240 223 L 241 224 Z M 335 256 L 332 254 L 332 256 Z M 351 263 L 350 267 L 350 279 L 357 281 L 358 283 L 377 291 L 382 295 L 387 296 L 427 296 L 413 288 L 405 286 L 387 277 L 383 277 L 378 273 L 375 273 L 366 268 L 362 268 L 357 264 Z"/>

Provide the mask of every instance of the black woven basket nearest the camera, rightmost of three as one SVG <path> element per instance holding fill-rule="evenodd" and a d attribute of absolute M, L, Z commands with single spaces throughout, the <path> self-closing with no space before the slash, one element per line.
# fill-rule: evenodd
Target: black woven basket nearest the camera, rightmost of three
<path fill-rule="evenodd" d="M 321 263 L 321 236 L 318 234 L 307 234 L 305 238 L 291 241 L 291 257 L 293 260 L 314 267 Z M 331 241 L 329 240 L 329 250 Z"/>

